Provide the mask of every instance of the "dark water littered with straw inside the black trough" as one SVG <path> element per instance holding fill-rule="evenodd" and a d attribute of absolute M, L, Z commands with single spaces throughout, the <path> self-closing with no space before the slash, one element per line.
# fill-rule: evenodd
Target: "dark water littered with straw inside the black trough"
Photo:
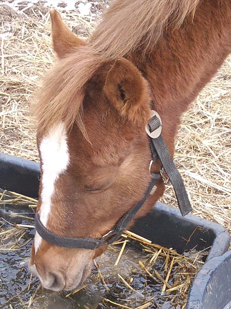
<path fill-rule="evenodd" d="M 5 198 L 9 199 L 10 197 L 6 196 Z M 14 223 L 33 226 L 35 208 L 28 207 L 30 203 L 17 205 L 17 199 L 13 201 L 14 204 L 3 202 L 0 215 L 1 308 L 10 308 L 10 305 L 13 308 L 29 306 L 51 309 L 117 307 L 108 300 L 128 308 L 137 308 L 149 299 L 151 299 L 151 304 L 148 308 L 174 308 L 169 302 L 174 295 L 169 296 L 165 292 L 161 296 L 163 283 L 156 277 L 153 279 L 148 276 L 139 265 L 139 261 L 141 261 L 151 273 L 155 269 L 163 277 L 166 277 L 166 272 L 164 273 L 166 257 L 159 256 L 154 266 L 149 264 L 148 261 L 150 261 L 152 254 L 142 252 L 140 244 L 133 240 L 126 243 L 117 267 L 114 264 L 122 243 L 109 246 L 107 251 L 96 259 L 105 283 L 99 277 L 98 270 L 94 266 L 90 277 L 83 284 L 83 289 L 75 294 L 68 296 L 69 292 L 52 292 L 43 289 L 38 279 L 35 276 L 31 277 L 28 271 L 34 229 L 14 226 Z M 118 274 L 130 283 L 134 290 L 129 290 Z M 175 280 L 175 275 L 173 275 L 168 283 L 172 286 Z M 177 293 L 178 291 L 174 294 Z M 180 307 L 175 306 L 175 308 Z"/>

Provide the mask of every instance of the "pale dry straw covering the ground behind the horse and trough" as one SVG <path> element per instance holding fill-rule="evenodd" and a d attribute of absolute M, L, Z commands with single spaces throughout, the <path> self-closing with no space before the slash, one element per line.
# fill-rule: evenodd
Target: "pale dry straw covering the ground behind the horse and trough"
<path fill-rule="evenodd" d="M 49 13 L 42 5 L 22 14 L 3 6 L 1 13 L 1 151 L 38 161 L 35 129 L 27 110 L 39 78 L 53 64 Z M 95 27 L 94 19 L 76 12 L 63 11 L 62 15 L 77 35 L 88 36 Z M 230 58 L 183 116 L 175 163 L 193 214 L 217 222 L 231 233 L 229 136 Z M 177 206 L 171 185 L 161 201 Z"/>

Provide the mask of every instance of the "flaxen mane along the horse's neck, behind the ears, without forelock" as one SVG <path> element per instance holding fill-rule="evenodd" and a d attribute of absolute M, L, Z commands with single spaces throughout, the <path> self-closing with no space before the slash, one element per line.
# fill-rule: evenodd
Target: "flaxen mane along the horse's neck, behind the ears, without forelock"
<path fill-rule="evenodd" d="M 167 26 L 178 28 L 200 0 L 117 0 L 102 15 L 89 39 L 96 53 L 123 57 L 142 47 L 150 53 Z"/>

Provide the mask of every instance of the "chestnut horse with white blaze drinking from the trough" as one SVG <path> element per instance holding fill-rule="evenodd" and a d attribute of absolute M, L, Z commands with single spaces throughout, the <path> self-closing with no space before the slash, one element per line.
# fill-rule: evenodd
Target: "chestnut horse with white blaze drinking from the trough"
<path fill-rule="evenodd" d="M 60 58 L 34 106 L 41 159 L 38 213 L 50 231 L 101 238 L 142 199 L 151 179 L 151 109 L 173 156 L 180 117 L 230 52 L 230 0 L 118 0 L 86 42 L 51 11 Z M 159 161 L 152 171 L 161 168 Z M 135 218 L 162 196 L 158 180 Z M 134 221 L 133 221 L 134 222 Z M 132 224 L 132 223 L 131 223 Z M 70 290 L 97 250 L 52 245 L 38 233 L 29 268 L 45 288 Z"/>

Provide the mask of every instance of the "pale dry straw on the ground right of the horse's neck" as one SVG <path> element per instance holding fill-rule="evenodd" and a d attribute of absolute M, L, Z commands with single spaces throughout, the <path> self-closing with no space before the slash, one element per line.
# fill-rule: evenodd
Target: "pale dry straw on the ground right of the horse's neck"
<path fill-rule="evenodd" d="M 175 163 L 184 179 L 193 214 L 230 225 L 230 57 L 183 116 Z M 177 205 L 171 185 L 163 201 Z"/>

